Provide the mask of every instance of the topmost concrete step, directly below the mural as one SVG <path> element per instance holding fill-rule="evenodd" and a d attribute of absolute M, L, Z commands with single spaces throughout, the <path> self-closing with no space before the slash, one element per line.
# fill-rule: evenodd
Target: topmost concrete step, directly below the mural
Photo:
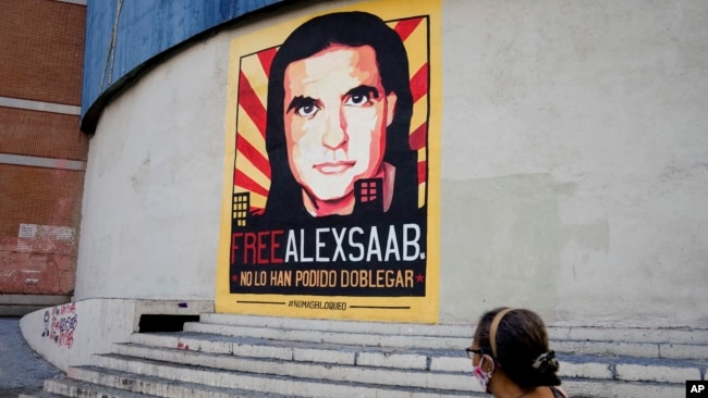
<path fill-rule="evenodd" d="M 469 325 L 334 322 L 224 314 L 204 314 L 198 323 L 185 323 L 184 331 L 289 341 L 450 350 L 468 347 L 474 333 Z M 436 332 L 439 334 L 436 335 Z M 557 328 L 551 336 L 551 347 L 557 352 L 572 355 L 708 359 L 708 333 L 704 334 L 704 331 L 697 331 L 695 335 L 687 331 L 635 332 L 637 339 L 632 340 L 628 329 Z M 700 340 L 703 337 L 705 339 Z"/>

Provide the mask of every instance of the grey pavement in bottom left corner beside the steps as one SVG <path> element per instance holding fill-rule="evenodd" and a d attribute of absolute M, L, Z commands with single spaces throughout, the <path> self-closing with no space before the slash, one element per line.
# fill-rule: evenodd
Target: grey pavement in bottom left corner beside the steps
<path fill-rule="evenodd" d="M 0 318 L 0 398 L 38 391 L 45 378 L 61 374 L 27 345 L 19 318 Z"/>

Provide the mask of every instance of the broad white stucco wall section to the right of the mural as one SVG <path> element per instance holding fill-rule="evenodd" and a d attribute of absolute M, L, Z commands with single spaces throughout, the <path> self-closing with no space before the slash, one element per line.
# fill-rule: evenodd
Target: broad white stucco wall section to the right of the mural
<path fill-rule="evenodd" d="M 708 3 L 444 4 L 442 316 L 708 325 Z"/>

